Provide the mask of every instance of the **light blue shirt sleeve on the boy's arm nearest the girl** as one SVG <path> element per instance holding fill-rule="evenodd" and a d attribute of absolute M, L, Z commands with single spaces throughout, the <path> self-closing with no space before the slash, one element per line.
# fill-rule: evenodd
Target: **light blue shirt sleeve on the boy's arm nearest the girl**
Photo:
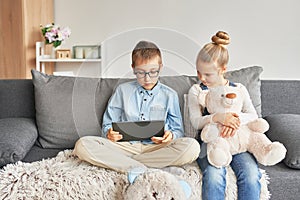
<path fill-rule="evenodd" d="M 167 127 L 173 133 L 173 139 L 184 136 L 182 115 L 180 112 L 179 99 L 177 93 L 171 96 L 172 101 L 168 101 Z"/>

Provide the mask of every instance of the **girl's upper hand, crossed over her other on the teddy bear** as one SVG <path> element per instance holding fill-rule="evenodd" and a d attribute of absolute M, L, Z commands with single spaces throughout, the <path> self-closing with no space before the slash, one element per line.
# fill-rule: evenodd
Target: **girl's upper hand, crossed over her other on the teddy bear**
<path fill-rule="evenodd" d="M 239 115 L 236 113 L 216 113 L 213 116 L 213 121 L 232 129 L 238 129 L 241 123 Z"/>

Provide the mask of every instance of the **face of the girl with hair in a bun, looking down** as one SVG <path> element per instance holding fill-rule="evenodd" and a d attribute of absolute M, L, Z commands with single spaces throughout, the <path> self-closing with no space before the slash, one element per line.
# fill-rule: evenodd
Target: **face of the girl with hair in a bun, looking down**
<path fill-rule="evenodd" d="M 225 67 L 220 67 L 215 62 L 197 63 L 197 75 L 199 80 L 207 87 L 216 87 L 224 84 Z"/>

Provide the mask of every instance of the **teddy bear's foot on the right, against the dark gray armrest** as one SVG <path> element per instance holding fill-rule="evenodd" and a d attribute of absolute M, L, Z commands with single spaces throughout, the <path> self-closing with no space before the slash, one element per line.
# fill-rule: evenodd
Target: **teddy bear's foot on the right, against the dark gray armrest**
<path fill-rule="evenodd" d="M 263 165 L 275 165 L 282 161 L 286 155 L 286 148 L 279 142 L 273 142 L 267 146 L 268 153 L 265 156 Z"/>

